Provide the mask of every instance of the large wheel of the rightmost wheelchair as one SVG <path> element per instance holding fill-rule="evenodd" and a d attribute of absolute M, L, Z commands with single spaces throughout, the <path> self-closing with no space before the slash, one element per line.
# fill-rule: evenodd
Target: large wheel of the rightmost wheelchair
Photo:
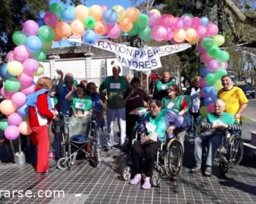
<path fill-rule="evenodd" d="M 244 146 L 238 135 L 232 135 L 227 148 L 227 160 L 231 167 L 238 165 L 243 158 Z"/>

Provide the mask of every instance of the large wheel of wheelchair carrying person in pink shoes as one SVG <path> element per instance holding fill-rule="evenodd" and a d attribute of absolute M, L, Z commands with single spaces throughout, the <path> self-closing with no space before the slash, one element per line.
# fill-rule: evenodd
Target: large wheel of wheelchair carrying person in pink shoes
<path fill-rule="evenodd" d="M 171 139 L 166 146 L 164 169 L 168 177 L 176 176 L 182 167 L 183 150 L 178 139 Z"/>

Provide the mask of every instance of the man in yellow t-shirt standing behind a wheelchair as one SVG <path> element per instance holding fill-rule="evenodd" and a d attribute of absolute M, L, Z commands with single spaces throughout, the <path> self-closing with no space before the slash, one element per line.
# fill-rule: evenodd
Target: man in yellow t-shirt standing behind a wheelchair
<path fill-rule="evenodd" d="M 218 98 L 225 102 L 225 111 L 233 114 L 241 122 L 241 114 L 249 103 L 248 99 L 241 88 L 233 86 L 229 75 L 224 75 L 221 78 L 221 83 L 224 88 L 218 91 Z"/>

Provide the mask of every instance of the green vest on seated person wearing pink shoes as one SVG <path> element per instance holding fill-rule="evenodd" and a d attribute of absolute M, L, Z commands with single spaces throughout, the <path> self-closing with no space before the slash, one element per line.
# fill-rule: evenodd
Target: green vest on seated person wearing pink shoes
<path fill-rule="evenodd" d="M 166 123 L 165 123 L 165 115 L 167 113 L 167 109 L 162 109 L 157 117 L 153 117 L 150 112 L 147 112 L 145 117 L 148 117 L 148 122 L 153 125 L 156 125 L 155 132 L 158 134 L 158 139 L 160 141 L 164 141 L 165 133 L 166 133 Z M 152 132 L 146 129 L 147 134 L 151 134 Z"/>

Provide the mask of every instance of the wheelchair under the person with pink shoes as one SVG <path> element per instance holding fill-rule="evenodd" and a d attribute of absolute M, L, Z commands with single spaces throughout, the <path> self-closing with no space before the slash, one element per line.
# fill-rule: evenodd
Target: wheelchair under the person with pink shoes
<path fill-rule="evenodd" d="M 138 130 L 139 124 L 136 123 L 133 129 L 133 141 L 137 141 L 140 132 Z M 183 162 L 183 150 L 177 136 L 171 139 L 164 139 L 164 142 L 157 150 L 156 161 L 154 165 L 153 174 L 151 176 L 151 185 L 158 186 L 160 178 L 165 174 L 169 178 L 174 178 L 181 170 Z M 143 164 L 142 164 L 143 166 Z M 124 161 L 119 166 L 121 178 L 124 181 L 131 179 L 132 174 L 132 158 L 131 149 L 124 155 Z"/>

